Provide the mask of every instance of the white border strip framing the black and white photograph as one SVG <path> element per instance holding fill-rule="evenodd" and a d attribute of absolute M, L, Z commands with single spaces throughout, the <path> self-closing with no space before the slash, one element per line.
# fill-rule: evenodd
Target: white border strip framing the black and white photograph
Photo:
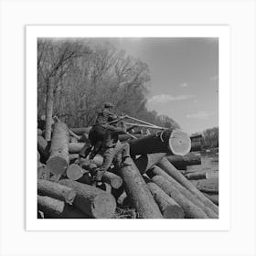
<path fill-rule="evenodd" d="M 229 229 L 230 45 L 228 26 L 27 26 L 26 32 L 27 230 Z M 219 37 L 219 219 L 37 219 L 37 172 L 35 171 L 37 169 L 37 37 Z"/>

